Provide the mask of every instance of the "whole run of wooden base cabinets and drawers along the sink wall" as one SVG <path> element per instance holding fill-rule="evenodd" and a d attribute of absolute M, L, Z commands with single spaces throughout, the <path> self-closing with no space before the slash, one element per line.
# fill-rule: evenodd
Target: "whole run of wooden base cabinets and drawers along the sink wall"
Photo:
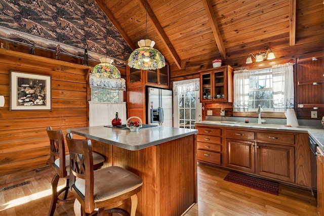
<path fill-rule="evenodd" d="M 264 179 L 311 189 L 308 133 L 195 124 L 197 160 Z M 324 207 L 324 153 L 317 157 L 319 197 Z M 318 165 L 321 163 L 321 165 Z M 320 172 L 321 171 L 321 172 Z M 324 215 L 320 214 L 320 215 Z"/>

